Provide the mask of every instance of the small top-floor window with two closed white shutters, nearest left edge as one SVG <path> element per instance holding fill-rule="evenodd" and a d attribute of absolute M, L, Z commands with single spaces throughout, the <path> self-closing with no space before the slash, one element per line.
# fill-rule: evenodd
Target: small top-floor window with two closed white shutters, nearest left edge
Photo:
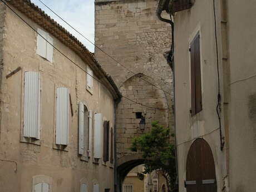
<path fill-rule="evenodd" d="M 37 54 L 52 62 L 53 38 L 40 28 L 37 29 L 37 33 Z"/>

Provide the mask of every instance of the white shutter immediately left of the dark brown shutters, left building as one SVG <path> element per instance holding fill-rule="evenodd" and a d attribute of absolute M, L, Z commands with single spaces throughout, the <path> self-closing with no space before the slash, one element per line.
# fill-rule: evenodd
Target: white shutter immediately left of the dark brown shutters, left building
<path fill-rule="evenodd" d="M 94 158 L 101 159 L 102 156 L 102 114 L 94 115 Z"/>

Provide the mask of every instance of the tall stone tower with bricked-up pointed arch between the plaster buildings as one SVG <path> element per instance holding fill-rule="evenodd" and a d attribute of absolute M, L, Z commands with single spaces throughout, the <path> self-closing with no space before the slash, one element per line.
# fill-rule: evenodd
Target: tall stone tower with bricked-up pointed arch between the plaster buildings
<path fill-rule="evenodd" d="M 157 3 L 95 0 L 95 44 L 105 52 L 95 47 L 95 56 L 124 96 L 116 111 L 119 178 L 143 163 L 129 147 L 132 138 L 150 130 L 151 121 L 173 130 L 173 72 L 163 56 L 170 51 L 171 27 L 157 18 Z M 139 129 L 141 115 L 145 130 Z"/>

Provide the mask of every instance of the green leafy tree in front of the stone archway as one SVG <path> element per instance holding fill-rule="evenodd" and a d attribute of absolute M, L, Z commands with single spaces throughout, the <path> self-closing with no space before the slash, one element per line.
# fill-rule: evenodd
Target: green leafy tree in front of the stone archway
<path fill-rule="evenodd" d="M 159 125 L 159 121 L 154 121 L 151 131 L 135 137 L 130 147 L 131 151 L 141 152 L 145 159 L 145 169 L 137 174 L 138 177 L 141 179 L 142 174 L 157 170 L 166 179 L 169 192 L 174 191 L 176 181 L 175 146 L 170 142 L 171 136 L 169 129 Z"/>

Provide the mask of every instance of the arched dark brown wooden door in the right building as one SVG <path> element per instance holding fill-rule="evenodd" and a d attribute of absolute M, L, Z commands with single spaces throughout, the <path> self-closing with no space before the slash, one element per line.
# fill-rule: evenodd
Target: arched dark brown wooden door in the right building
<path fill-rule="evenodd" d="M 213 153 L 204 139 L 197 139 L 189 149 L 186 160 L 187 192 L 216 192 Z"/>

